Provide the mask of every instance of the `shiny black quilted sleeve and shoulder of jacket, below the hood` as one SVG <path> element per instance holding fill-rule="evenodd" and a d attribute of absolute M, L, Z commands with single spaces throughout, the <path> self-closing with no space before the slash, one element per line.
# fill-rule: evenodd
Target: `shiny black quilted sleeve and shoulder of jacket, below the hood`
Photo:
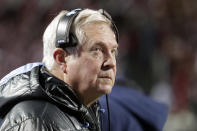
<path fill-rule="evenodd" d="M 23 101 L 3 118 L 0 131 L 75 131 L 83 130 L 56 106 L 46 101 Z M 76 122 L 75 124 L 73 122 Z M 76 127 L 76 125 L 78 125 Z"/>

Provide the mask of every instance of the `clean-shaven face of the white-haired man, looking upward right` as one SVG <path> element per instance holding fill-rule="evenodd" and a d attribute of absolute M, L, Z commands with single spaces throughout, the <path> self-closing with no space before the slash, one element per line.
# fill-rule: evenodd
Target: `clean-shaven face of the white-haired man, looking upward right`
<path fill-rule="evenodd" d="M 118 44 L 114 32 L 104 23 L 83 27 L 85 43 L 67 63 L 68 84 L 81 96 L 101 96 L 111 92 L 116 76 Z"/>

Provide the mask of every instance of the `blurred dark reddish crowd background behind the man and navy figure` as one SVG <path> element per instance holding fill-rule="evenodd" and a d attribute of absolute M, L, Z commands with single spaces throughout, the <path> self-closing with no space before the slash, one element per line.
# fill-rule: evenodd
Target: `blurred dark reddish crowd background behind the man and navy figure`
<path fill-rule="evenodd" d="M 42 34 L 62 9 L 103 8 L 120 33 L 118 78 L 166 103 L 164 131 L 196 131 L 196 0 L 0 0 L 0 78 L 42 60 Z"/>

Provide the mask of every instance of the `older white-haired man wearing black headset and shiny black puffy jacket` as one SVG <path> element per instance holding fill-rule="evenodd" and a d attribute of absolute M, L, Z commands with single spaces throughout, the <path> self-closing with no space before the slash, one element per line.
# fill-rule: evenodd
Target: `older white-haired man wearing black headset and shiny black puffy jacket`
<path fill-rule="evenodd" d="M 100 131 L 97 99 L 116 76 L 117 29 L 103 10 L 62 11 L 43 35 L 43 63 L 0 81 L 1 131 Z"/>

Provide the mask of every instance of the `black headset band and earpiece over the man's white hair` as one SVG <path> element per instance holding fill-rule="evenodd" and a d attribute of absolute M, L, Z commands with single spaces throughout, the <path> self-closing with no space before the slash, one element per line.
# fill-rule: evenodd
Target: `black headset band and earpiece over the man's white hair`
<path fill-rule="evenodd" d="M 56 30 L 56 47 L 57 48 L 67 48 L 67 47 L 74 47 L 77 45 L 78 40 L 75 34 L 70 32 L 70 28 L 76 16 L 82 11 L 83 9 L 78 8 L 69 11 L 65 15 L 63 15 L 57 25 Z M 112 23 L 112 30 L 116 36 L 116 41 L 119 41 L 119 34 L 118 29 L 113 22 L 111 16 L 103 9 L 98 10 L 101 14 L 103 14 L 106 18 L 108 18 Z"/>

